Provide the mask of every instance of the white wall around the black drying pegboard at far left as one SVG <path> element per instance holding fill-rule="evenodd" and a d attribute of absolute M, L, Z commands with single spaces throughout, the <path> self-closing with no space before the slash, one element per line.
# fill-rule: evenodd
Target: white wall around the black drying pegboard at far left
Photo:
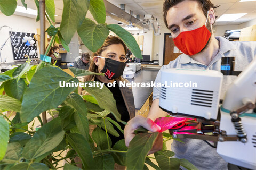
<path fill-rule="evenodd" d="M 12 28 L 14 32 L 28 32 L 28 33 L 36 33 L 36 29 L 40 28 L 40 22 L 36 22 L 34 18 L 28 18 L 25 16 L 12 15 L 5 16 L 0 12 L 0 27 L 3 25 L 7 25 Z M 9 37 L 10 28 L 3 27 L 0 30 L 0 46 L 5 42 L 5 40 Z M 14 62 L 12 47 L 10 39 L 7 41 L 3 49 L 1 50 L 2 60 L 7 58 L 6 63 Z"/>

